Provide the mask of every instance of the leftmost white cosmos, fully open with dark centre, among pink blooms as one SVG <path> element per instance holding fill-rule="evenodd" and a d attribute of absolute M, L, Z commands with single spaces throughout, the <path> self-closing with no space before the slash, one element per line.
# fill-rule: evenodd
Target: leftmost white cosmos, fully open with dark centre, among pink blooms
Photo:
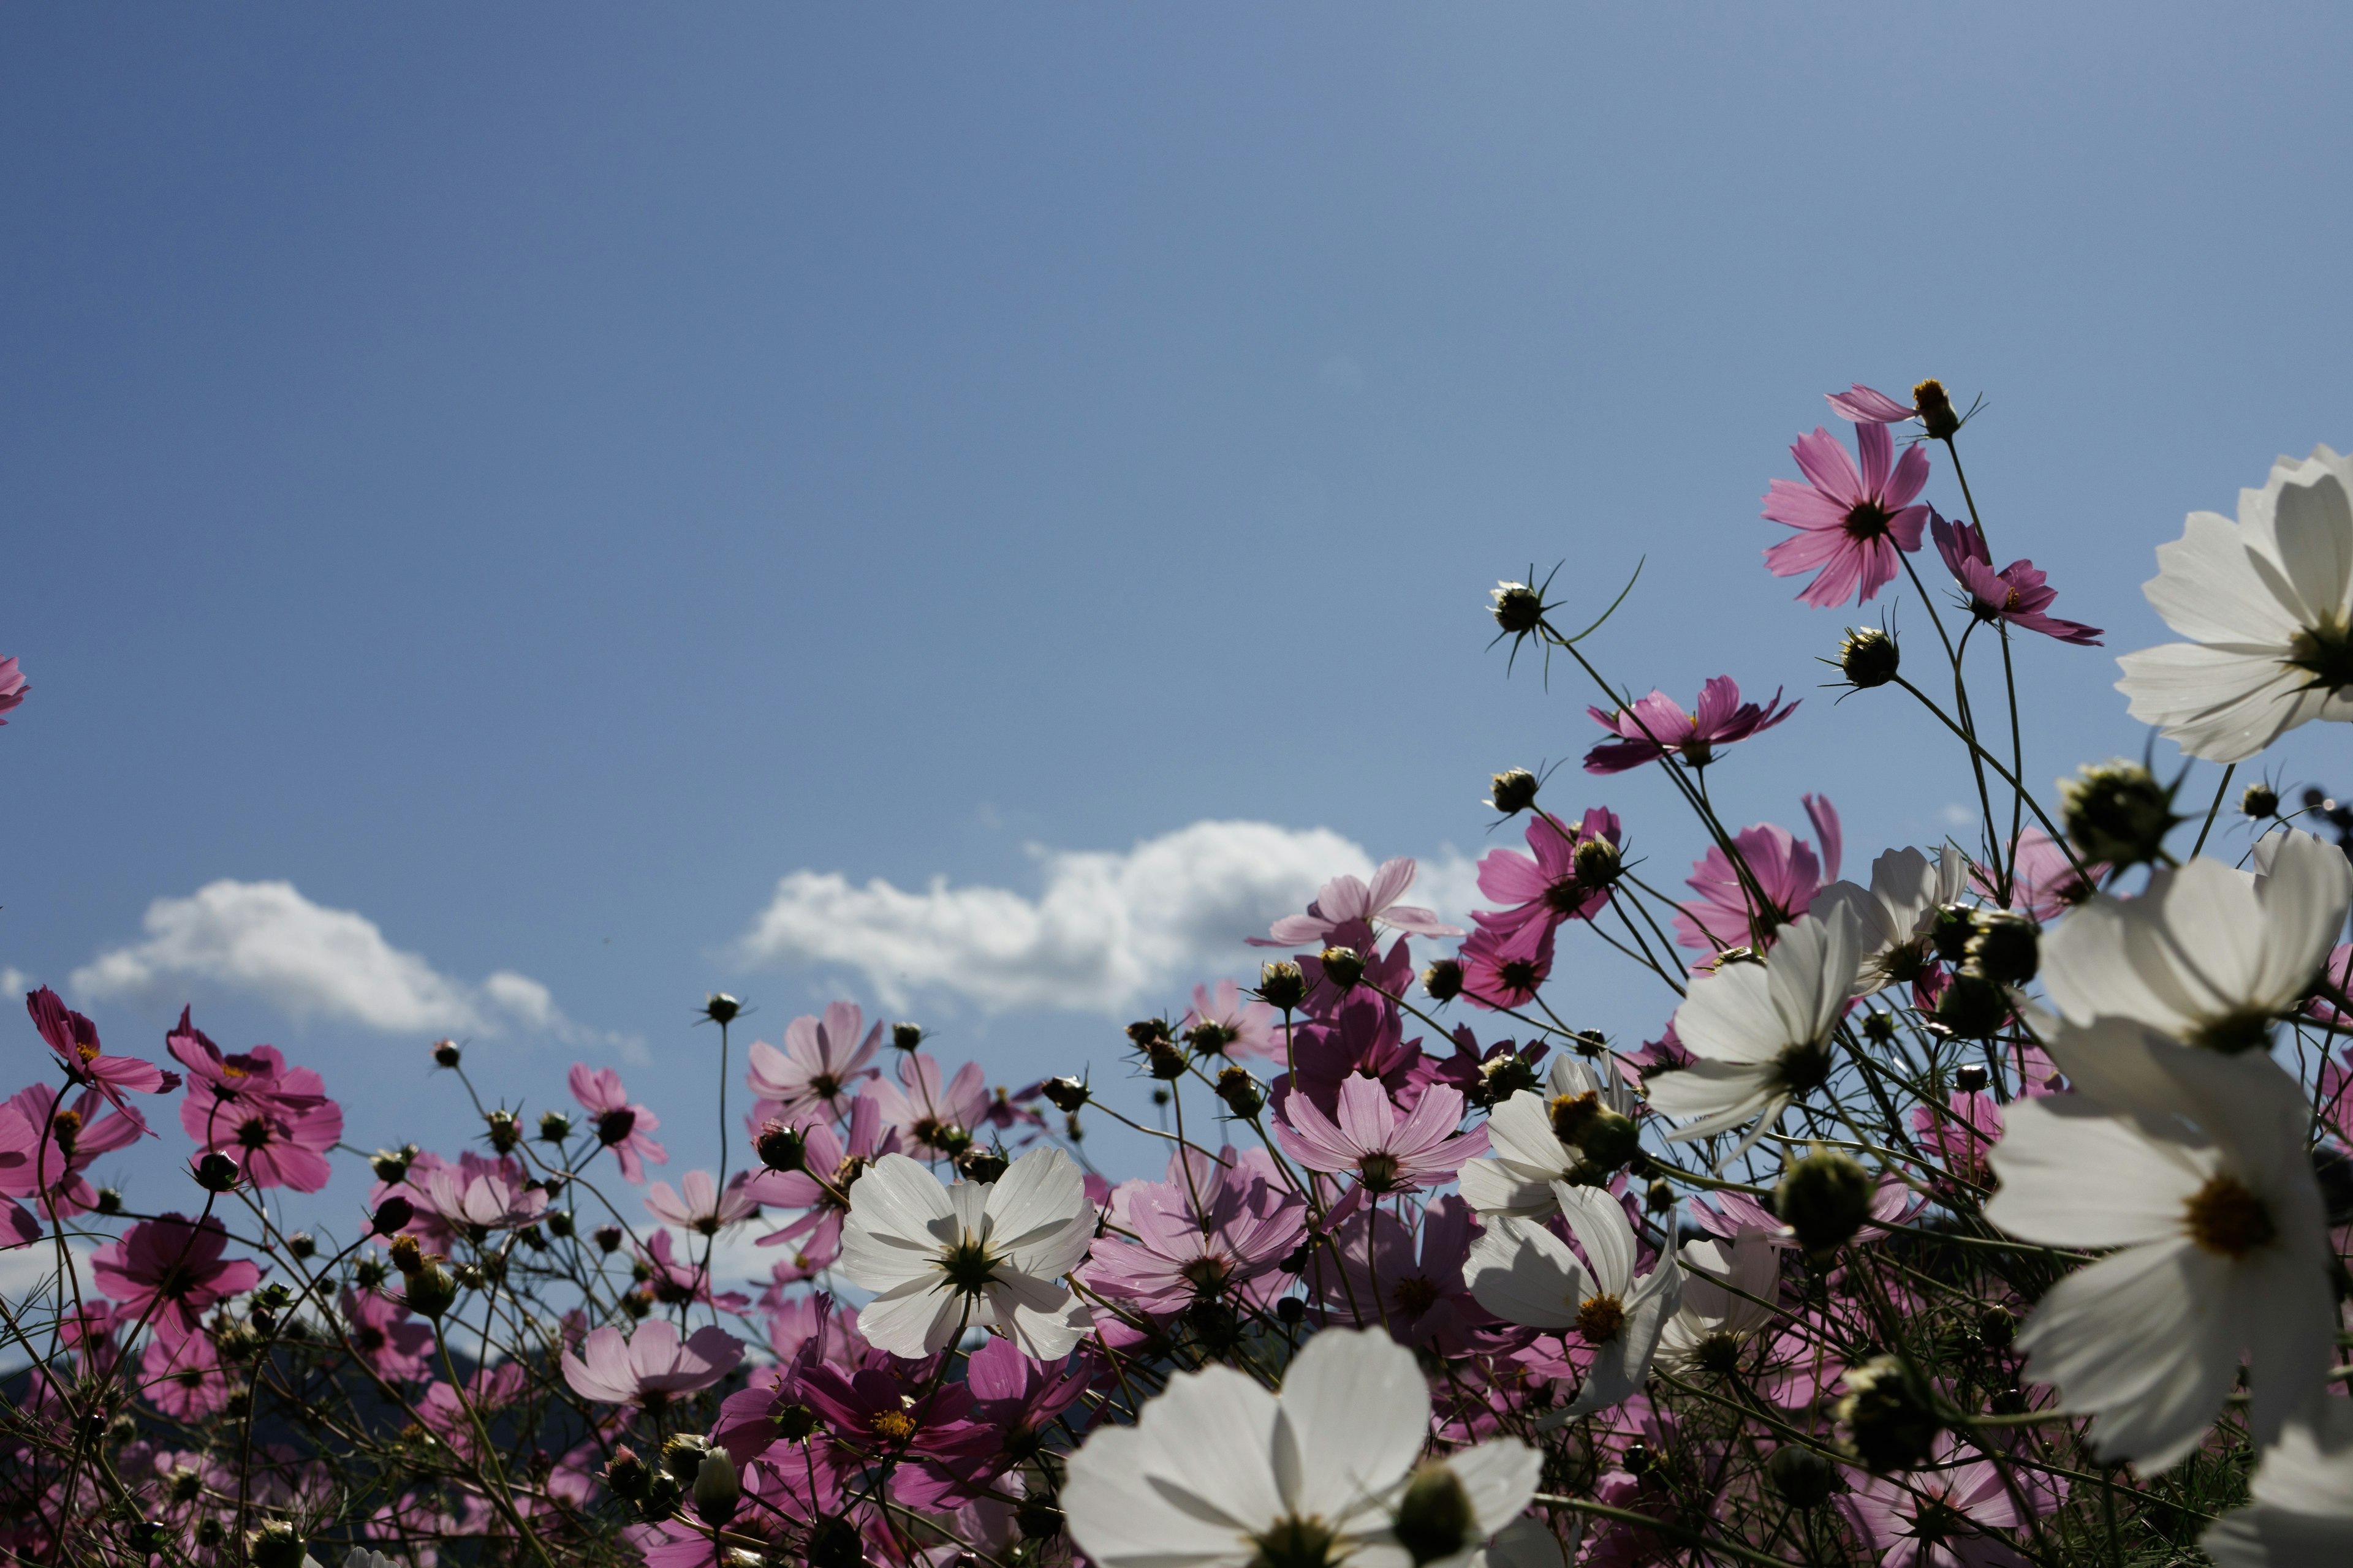
<path fill-rule="evenodd" d="M 998 1328 L 1052 1361 L 1094 1316 L 1068 1274 L 1094 1239 L 1094 1206 L 1061 1150 L 1031 1150 L 993 1182 L 941 1185 L 906 1154 L 885 1154 L 849 1187 L 842 1274 L 875 1291 L 859 1333 L 894 1356 L 929 1356 L 960 1324 Z"/>

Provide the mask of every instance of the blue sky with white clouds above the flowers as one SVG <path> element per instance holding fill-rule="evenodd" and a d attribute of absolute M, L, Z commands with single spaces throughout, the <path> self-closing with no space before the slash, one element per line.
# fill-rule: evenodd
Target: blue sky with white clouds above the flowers
<path fill-rule="evenodd" d="M 1257 905 L 1475 856 L 1492 769 L 1584 752 L 1591 693 L 1485 646 L 1529 562 L 1600 604 L 1647 557 L 1595 639 L 1635 689 L 1807 696 L 1718 769 L 1734 820 L 1824 790 L 1849 865 L 1932 842 L 1955 757 L 1814 691 L 1882 607 L 1765 576 L 1767 480 L 1824 390 L 1986 393 L 1995 557 L 2111 630 L 2024 651 L 2028 771 L 2137 752 L 2108 654 L 2162 639 L 2151 548 L 2353 442 L 2348 33 L 14 7 L 0 966 L 113 1048 L 193 999 L 362 1145 L 452 1143 L 459 1030 L 532 1107 L 624 1065 L 708 1159 L 711 987 L 1115 1077 Z M 2353 790 L 2341 748 L 2273 762 Z M 1551 799 L 1697 853 L 1647 778 Z M 1577 964 L 1595 1023 L 1664 1018 Z"/>

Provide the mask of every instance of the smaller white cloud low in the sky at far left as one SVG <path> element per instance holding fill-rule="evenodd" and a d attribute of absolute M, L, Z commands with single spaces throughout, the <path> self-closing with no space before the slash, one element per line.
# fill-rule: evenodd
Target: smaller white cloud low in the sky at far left
<path fill-rule="evenodd" d="M 386 1034 L 586 1037 L 539 980 L 504 969 L 480 985 L 452 980 L 384 940 L 376 922 L 315 905 L 292 882 L 212 882 L 188 898 L 158 898 L 144 924 L 144 943 L 75 969 L 73 990 L 169 1001 L 200 983 L 259 997 L 299 1020 Z"/>

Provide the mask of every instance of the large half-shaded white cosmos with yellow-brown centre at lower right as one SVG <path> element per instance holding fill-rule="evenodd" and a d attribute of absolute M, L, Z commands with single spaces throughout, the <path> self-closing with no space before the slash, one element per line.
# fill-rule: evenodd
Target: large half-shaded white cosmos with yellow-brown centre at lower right
<path fill-rule="evenodd" d="M 2019 1347 L 2104 1458 L 2198 1448 L 2252 1349 L 2259 1443 L 2329 1366 L 2334 1293 L 2311 1105 L 2268 1056 L 2177 1046 L 2129 1020 L 2068 1030 L 2075 1093 L 2012 1100 L 1986 1218 L 2045 1246 L 2118 1248 L 2045 1293 Z"/>

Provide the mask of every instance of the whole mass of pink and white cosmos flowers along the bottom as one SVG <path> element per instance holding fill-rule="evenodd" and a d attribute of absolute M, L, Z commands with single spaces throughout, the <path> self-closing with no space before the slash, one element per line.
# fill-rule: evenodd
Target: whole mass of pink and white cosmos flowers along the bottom
<path fill-rule="evenodd" d="M 5 1220 L 101 1246 L 94 1293 L 59 1267 L 7 1305 L 33 1368 L 0 1542 L 264 1568 L 327 1542 L 546 1568 L 2353 1561 L 2353 865 L 2271 785 L 2245 858 L 2200 856 L 2228 771 L 2202 818 L 2120 762 L 2038 799 L 2017 719 L 1979 726 L 1969 642 L 2017 715 L 2012 635 L 2099 630 L 2047 614 L 2033 562 L 1995 571 L 1974 508 L 1920 503 L 1932 444 L 1960 480 L 1941 386 L 1831 404 L 1859 461 L 1800 437 L 1767 564 L 1821 607 L 1911 578 L 1953 701 L 1887 630 L 1835 663 L 1953 733 L 1974 844 L 1889 849 L 1864 884 L 1824 797 L 1809 837 L 1725 823 L 1706 771 L 1795 703 L 1614 691 L 1544 588 L 1504 583 L 1501 637 L 1607 693 L 1586 773 L 1661 769 L 1701 825 L 1687 893 L 1642 879 L 1612 809 L 1497 773 L 1527 851 L 1480 863 L 1471 931 L 1405 903 L 1412 860 L 1332 879 L 1252 938 L 1285 952 L 1254 990 L 1127 1027 L 1146 1121 L 1078 1077 L 991 1091 L 838 1001 L 751 1044 L 739 1143 L 741 1009 L 711 997 L 734 1173 L 626 1201 L 614 1178 L 668 1161 L 659 1119 L 579 1065 L 576 1110 L 475 1100 L 478 1147 L 374 1154 L 353 1234 L 313 1239 L 271 1190 L 322 1190 L 341 1147 L 315 1072 L 188 1016 L 176 1070 L 108 1056 L 35 992 L 56 1084 L 0 1110 Z M 2282 458 L 2160 567 L 2188 642 L 2122 661 L 2134 715 L 2233 766 L 2353 717 L 2353 461 Z M 1555 1011 L 1555 964 L 1600 947 L 1661 987 L 1654 1039 Z M 169 1093 L 193 1218 L 82 1175 Z M 1082 1112 L 1165 1143 L 1165 1173 L 1099 1175 Z M 767 1279 L 718 1279 L 753 1222 Z"/>

